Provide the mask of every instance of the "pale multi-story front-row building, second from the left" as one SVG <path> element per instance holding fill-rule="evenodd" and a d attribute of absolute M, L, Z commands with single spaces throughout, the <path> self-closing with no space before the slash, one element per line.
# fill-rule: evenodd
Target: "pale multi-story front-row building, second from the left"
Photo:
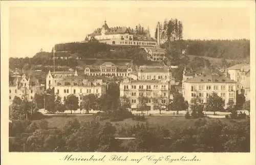
<path fill-rule="evenodd" d="M 54 93 L 60 96 L 63 102 L 68 95 L 73 94 L 78 97 L 79 104 L 82 96 L 94 94 L 100 97 L 106 92 L 106 83 L 103 79 L 91 77 L 86 79 L 81 76 L 69 76 L 65 79 L 56 79 L 54 82 Z"/>

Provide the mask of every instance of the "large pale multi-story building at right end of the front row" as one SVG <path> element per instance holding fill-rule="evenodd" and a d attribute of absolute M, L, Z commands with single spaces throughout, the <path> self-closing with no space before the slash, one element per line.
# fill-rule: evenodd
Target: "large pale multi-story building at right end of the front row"
<path fill-rule="evenodd" d="M 237 82 L 231 80 L 228 74 L 212 72 L 211 74 L 194 74 L 183 72 L 182 94 L 186 101 L 199 96 L 200 103 L 206 103 L 207 97 L 216 92 L 225 102 L 225 107 L 229 100 L 236 103 Z"/>

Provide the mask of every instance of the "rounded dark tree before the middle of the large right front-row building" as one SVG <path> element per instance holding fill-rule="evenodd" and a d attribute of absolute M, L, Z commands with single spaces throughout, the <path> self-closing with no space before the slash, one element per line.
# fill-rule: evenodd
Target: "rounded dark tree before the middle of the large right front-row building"
<path fill-rule="evenodd" d="M 212 94 L 207 98 L 206 109 L 207 111 L 213 111 L 214 115 L 216 115 L 216 111 L 223 111 L 223 106 L 224 101 L 220 96 L 217 95 L 217 93 L 212 92 Z"/>

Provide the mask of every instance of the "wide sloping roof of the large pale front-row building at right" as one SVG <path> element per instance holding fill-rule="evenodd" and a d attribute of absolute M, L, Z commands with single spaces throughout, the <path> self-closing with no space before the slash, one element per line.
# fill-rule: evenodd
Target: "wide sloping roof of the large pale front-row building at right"
<path fill-rule="evenodd" d="M 210 74 L 210 75 L 198 75 L 196 77 L 187 79 L 185 82 L 196 82 L 196 83 L 237 83 L 234 80 L 226 77 L 225 75 L 218 75 L 218 74 Z"/>

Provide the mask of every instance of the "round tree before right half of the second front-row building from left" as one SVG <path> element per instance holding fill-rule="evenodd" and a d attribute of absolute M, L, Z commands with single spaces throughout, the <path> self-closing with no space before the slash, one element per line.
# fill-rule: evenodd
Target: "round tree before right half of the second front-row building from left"
<path fill-rule="evenodd" d="M 97 97 L 94 94 L 89 94 L 82 97 L 80 108 L 86 109 L 87 114 L 91 109 L 96 109 Z"/>

